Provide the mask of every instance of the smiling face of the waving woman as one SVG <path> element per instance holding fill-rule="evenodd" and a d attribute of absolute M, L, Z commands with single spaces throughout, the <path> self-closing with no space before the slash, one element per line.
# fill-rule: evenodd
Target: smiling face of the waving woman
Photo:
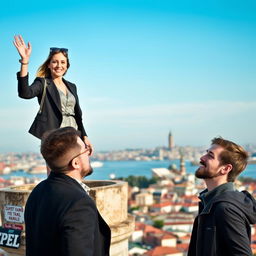
<path fill-rule="evenodd" d="M 67 58 L 63 55 L 62 52 L 54 54 L 48 65 L 48 68 L 51 71 L 51 76 L 53 79 L 62 77 L 68 69 Z"/>

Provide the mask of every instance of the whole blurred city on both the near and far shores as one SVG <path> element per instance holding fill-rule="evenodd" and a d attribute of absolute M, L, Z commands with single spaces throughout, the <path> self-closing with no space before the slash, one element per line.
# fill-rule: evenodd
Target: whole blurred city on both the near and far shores
<path fill-rule="evenodd" d="M 256 163 L 256 146 L 245 145 L 250 163 Z M 129 239 L 129 255 L 187 255 L 192 225 L 198 211 L 198 193 L 205 186 L 202 180 L 186 171 L 185 161 L 197 165 L 206 147 L 175 145 L 171 132 L 167 146 L 153 149 L 125 149 L 95 152 L 92 164 L 104 161 L 162 161 L 179 160 L 179 166 L 152 168 L 154 181 L 147 187 L 131 185 L 128 189 L 128 209 L 135 217 L 135 230 Z M 39 153 L 0 154 L 0 174 L 22 170 L 30 174 L 46 174 L 44 159 Z M 26 176 L 0 178 L 0 187 L 38 183 L 43 178 Z M 115 177 L 113 177 L 115 179 Z M 136 177 L 134 178 L 136 179 Z M 147 179 L 144 177 L 144 179 Z M 239 190 L 246 189 L 256 197 L 255 182 L 237 181 Z M 252 226 L 253 253 L 256 253 L 256 225 Z"/>

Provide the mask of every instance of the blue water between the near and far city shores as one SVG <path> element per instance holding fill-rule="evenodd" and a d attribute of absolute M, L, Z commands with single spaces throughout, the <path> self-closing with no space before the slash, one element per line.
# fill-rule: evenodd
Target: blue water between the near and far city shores
<path fill-rule="evenodd" d="M 174 161 L 105 161 L 103 167 L 94 168 L 92 175 L 88 176 L 88 180 L 108 180 L 111 174 L 118 177 L 152 176 L 152 168 L 168 168 L 171 164 L 175 164 L 179 168 L 179 160 Z M 194 173 L 197 166 L 192 166 L 190 162 L 186 162 L 187 173 Z M 16 171 L 10 174 L 1 175 L 4 179 L 9 179 L 10 176 L 26 176 L 46 178 L 46 174 L 28 174 L 24 171 Z M 246 170 L 240 176 L 246 176 L 256 179 L 256 164 L 248 165 Z"/>

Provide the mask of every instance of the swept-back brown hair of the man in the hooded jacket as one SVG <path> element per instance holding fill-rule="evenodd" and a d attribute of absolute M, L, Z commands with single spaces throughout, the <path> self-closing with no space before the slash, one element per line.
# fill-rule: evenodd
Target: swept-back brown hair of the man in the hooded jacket
<path fill-rule="evenodd" d="M 231 164 L 232 170 L 228 173 L 228 181 L 235 181 L 236 177 L 245 169 L 248 153 L 243 147 L 221 137 L 212 139 L 212 145 L 216 144 L 224 148 L 220 154 L 220 163 Z"/>

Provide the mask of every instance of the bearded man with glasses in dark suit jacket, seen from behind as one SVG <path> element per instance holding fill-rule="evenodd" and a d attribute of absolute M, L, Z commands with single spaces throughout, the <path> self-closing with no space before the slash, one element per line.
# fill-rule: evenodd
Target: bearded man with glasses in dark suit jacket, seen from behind
<path fill-rule="evenodd" d="M 25 208 L 27 256 L 106 256 L 110 229 L 83 178 L 92 173 L 90 148 L 74 128 L 47 134 L 41 153 L 51 169 Z"/>

